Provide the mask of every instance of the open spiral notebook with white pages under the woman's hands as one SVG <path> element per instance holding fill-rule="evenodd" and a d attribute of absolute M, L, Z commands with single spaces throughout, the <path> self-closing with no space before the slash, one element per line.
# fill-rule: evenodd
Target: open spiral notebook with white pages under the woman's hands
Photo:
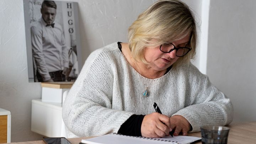
<path fill-rule="evenodd" d="M 145 138 L 121 135 L 117 133 L 106 134 L 95 138 L 82 139 L 84 144 L 189 144 L 200 140 L 198 137 L 178 135 L 164 138 Z"/>

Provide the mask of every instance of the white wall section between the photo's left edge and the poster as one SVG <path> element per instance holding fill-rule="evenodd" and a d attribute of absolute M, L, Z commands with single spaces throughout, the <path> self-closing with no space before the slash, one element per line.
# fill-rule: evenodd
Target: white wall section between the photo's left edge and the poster
<path fill-rule="evenodd" d="M 31 100 L 40 98 L 39 83 L 28 83 L 21 0 L 0 1 L 0 107 L 11 111 L 11 142 L 39 139 L 30 131 Z"/>

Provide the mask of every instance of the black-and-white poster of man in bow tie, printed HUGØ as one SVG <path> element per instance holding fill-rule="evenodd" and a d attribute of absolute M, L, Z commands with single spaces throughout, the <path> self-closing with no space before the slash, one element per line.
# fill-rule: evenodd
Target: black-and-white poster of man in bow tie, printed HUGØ
<path fill-rule="evenodd" d="M 23 0 L 30 82 L 74 81 L 81 68 L 76 2 Z"/>

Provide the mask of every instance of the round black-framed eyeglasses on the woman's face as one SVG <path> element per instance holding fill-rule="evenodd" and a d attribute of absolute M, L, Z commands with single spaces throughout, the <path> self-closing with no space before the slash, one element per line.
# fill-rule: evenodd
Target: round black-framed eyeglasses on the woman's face
<path fill-rule="evenodd" d="M 188 47 L 178 47 L 176 48 L 174 46 L 174 44 L 172 43 L 164 43 L 161 44 L 160 46 L 160 50 L 163 53 L 170 53 L 173 50 L 176 50 L 176 56 L 177 57 L 183 57 L 184 55 L 186 55 L 192 48 L 188 48 Z"/>

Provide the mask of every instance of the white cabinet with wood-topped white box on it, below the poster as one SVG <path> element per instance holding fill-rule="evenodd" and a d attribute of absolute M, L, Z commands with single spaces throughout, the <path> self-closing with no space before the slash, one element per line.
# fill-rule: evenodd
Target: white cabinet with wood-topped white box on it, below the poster
<path fill-rule="evenodd" d="M 66 137 L 62 102 L 73 82 L 42 82 L 42 99 L 32 100 L 31 131 L 46 137 Z"/>

